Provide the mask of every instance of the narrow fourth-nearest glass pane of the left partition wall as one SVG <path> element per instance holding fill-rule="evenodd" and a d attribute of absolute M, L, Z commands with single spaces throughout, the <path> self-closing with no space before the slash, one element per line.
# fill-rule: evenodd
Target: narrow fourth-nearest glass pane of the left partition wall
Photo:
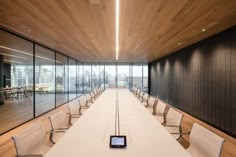
<path fill-rule="evenodd" d="M 69 58 L 69 100 L 76 98 L 76 61 Z"/>

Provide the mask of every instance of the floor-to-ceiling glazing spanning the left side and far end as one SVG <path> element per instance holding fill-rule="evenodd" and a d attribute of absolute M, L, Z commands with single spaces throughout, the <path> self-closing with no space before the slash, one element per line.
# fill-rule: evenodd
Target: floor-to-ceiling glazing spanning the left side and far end
<path fill-rule="evenodd" d="M 0 29 L 0 134 L 116 80 L 147 92 L 147 64 L 82 63 Z"/>

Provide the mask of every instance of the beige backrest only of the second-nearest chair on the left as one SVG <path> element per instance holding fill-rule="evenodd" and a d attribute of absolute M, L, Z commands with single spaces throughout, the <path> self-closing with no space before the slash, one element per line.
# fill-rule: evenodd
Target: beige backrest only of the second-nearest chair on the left
<path fill-rule="evenodd" d="M 66 115 L 64 111 L 58 111 L 57 113 L 49 117 L 52 129 L 68 128 Z"/>

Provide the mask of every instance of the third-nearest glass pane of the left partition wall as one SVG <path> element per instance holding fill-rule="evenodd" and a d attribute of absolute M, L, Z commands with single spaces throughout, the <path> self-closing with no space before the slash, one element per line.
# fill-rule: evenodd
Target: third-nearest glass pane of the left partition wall
<path fill-rule="evenodd" d="M 56 53 L 56 106 L 68 102 L 68 58 Z"/>

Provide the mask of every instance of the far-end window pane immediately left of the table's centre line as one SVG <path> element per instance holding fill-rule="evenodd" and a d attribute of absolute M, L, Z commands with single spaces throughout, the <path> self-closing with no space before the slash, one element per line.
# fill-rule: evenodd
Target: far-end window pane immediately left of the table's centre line
<path fill-rule="evenodd" d="M 115 88 L 115 65 L 105 65 L 105 88 Z"/>

